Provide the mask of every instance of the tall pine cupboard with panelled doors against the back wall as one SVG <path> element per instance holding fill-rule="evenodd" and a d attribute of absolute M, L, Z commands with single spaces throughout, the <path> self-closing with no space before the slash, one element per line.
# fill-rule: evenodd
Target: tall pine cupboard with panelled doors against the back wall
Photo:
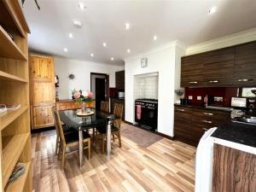
<path fill-rule="evenodd" d="M 30 105 L 32 130 L 54 125 L 51 107 L 55 106 L 54 59 L 45 55 L 29 55 Z"/>

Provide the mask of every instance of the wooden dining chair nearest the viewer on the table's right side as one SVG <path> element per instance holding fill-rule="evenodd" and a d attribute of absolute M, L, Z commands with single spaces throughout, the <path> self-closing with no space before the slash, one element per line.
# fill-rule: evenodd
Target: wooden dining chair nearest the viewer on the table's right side
<path fill-rule="evenodd" d="M 113 120 L 113 124 L 111 127 L 111 136 L 113 137 L 113 142 L 115 138 L 119 139 L 119 148 L 122 147 L 121 142 L 121 122 L 123 117 L 123 109 L 124 105 L 120 103 L 115 103 L 113 107 L 113 114 L 115 115 L 116 119 Z M 99 126 L 96 127 L 96 143 L 97 139 L 100 137 L 102 140 L 102 154 L 105 150 L 105 143 L 107 142 L 107 126 Z"/>

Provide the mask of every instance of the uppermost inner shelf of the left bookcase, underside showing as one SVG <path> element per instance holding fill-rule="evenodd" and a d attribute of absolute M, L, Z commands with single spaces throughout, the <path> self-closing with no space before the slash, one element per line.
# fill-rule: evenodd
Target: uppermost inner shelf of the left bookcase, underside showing
<path fill-rule="evenodd" d="M 0 26 L 0 42 L 0 57 L 27 61 L 26 56 L 9 37 L 8 33 L 3 30 L 2 26 Z"/>

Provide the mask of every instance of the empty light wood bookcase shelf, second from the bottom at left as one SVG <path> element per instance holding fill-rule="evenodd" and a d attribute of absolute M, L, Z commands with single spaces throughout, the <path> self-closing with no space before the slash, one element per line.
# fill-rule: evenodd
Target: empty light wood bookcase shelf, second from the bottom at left
<path fill-rule="evenodd" d="M 2 137 L 2 177 L 3 186 L 6 185 L 8 179 L 13 172 L 17 161 L 20 158 L 29 133 L 16 134 L 14 136 Z"/>

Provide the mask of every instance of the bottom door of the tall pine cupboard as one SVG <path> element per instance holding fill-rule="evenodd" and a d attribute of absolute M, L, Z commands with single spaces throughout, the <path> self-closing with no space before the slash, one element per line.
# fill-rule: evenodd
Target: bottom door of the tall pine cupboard
<path fill-rule="evenodd" d="M 32 129 L 54 125 L 54 119 L 50 106 L 32 107 Z"/>

